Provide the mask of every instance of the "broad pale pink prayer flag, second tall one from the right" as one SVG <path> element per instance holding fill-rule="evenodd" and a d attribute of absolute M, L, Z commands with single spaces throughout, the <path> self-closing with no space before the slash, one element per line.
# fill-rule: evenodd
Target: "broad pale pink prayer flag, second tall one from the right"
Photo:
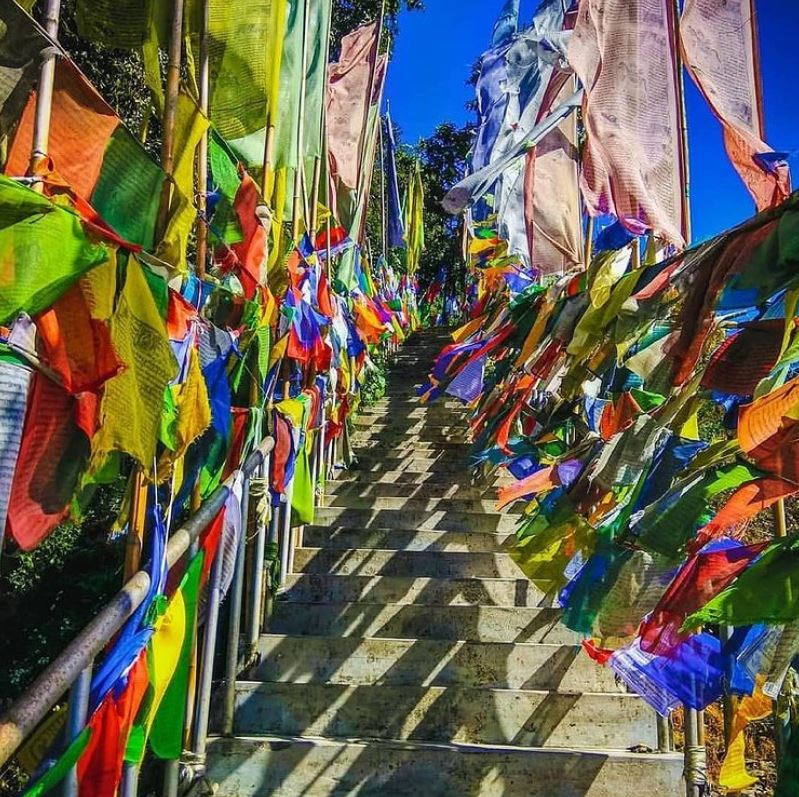
<path fill-rule="evenodd" d="M 569 62 L 585 87 L 589 213 L 685 243 L 672 0 L 582 0 Z"/>

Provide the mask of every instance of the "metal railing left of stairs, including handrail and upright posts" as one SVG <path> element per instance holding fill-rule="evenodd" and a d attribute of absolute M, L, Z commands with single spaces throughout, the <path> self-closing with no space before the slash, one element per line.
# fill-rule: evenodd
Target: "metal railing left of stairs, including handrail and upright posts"
<path fill-rule="evenodd" d="M 245 595 L 248 600 L 247 646 L 251 649 L 257 642 L 264 616 L 265 589 L 263 567 L 250 570 L 250 589 L 245 592 L 244 561 L 248 545 L 248 518 L 250 515 L 250 484 L 268 474 L 269 456 L 274 440 L 265 439 L 258 449 L 202 504 L 174 534 L 169 538 L 166 548 L 167 567 L 171 570 L 185 554 L 196 552 L 202 532 L 214 520 L 228 501 L 233 484 L 241 479 L 242 531 L 239 535 L 236 552 L 233 582 L 227 598 L 229 622 L 227 633 L 227 656 L 224 671 L 224 717 L 223 730 L 232 731 L 232 706 L 235 702 L 236 678 L 240 670 L 241 618 Z M 284 508 L 286 507 L 286 508 Z M 290 515 L 290 506 L 281 504 L 280 511 L 273 512 L 273 520 L 279 516 Z M 274 527 L 276 523 L 272 523 Z M 263 562 L 267 530 L 259 518 L 255 534 L 251 538 L 254 546 L 255 562 Z M 211 568 L 208 586 L 205 622 L 202 633 L 194 635 L 194 651 L 199 662 L 195 684 L 193 709 L 184 725 L 184 747 L 186 758 L 192 762 L 202 762 L 205 756 L 210 720 L 211 691 L 214 677 L 214 659 L 219 632 L 220 611 L 222 608 L 221 552 L 215 557 Z M 39 724 L 59 705 L 68 694 L 68 711 L 65 730 L 62 734 L 64 747 L 70 744 L 86 727 L 89 720 L 89 689 L 97 657 L 112 642 L 127 620 L 145 601 L 150 590 L 150 575 L 141 570 L 136 573 L 109 601 L 97 616 L 67 645 L 59 656 L 36 678 L 28 689 L 0 717 L 0 767 L 7 764 L 20 746 L 33 734 Z M 190 701 L 191 702 L 191 701 Z M 176 795 L 180 776 L 180 762 L 167 762 L 163 794 Z M 121 793 L 125 797 L 136 794 L 138 781 L 137 767 L 126 765 Z M 63 793 L 72 797 L 77 795 L 77 777 L 73 771 L 67 777 Z"/>

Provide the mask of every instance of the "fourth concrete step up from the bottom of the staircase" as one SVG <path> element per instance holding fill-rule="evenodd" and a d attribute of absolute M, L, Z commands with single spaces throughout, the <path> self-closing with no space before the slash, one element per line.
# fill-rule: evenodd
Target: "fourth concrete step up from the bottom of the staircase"
<path fill-rule="evenodd" d="M 547 642 L 576 645 L 558 609 L 505 606 L 421 606 L 377 603 L 278 603 L 273 634 L 448 639 L 464 642 Z"/>

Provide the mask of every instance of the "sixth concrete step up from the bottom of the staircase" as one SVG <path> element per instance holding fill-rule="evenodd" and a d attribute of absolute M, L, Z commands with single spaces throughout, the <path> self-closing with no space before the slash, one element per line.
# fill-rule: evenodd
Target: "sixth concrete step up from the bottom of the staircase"
<path fill-rule="evenodd" d="M 504 553 L 391 551 L 370 548 L 298 548 L 297 573 L 416 578 L 518 578 L 522 571 Z"/>

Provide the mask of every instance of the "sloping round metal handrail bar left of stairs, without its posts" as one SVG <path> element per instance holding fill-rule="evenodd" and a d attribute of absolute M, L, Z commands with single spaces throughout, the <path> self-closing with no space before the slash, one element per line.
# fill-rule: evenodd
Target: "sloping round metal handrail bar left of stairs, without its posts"
<path fill-rule="evenodd" d="M 275 441 L 267 437 L 244 464 L 231 474 L 181 526 L 167 543 L 171 570 L 224 506 L 239 475 L 251 476 L 266 461 Z M 150 589 L 150 576 L 136 573 L 102 611 L 64 648 L 25 692 L 0 716 L 0 766 L 5 765 L 48 712 L 61 700 L 81 673 L 141 606 Z"/>

